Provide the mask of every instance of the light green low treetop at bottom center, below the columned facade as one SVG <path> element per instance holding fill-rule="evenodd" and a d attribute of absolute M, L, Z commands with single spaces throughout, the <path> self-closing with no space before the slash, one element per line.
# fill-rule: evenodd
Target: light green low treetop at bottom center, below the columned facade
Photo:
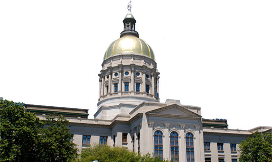
<path fill-rule="evenodd" d="M 76 162 L 168 162 L 154 158 L 150 154 L 141 157 L 132 151 L 122 147 L 111 147 L 107 145 L 94 145 L 82 151 Z"/>

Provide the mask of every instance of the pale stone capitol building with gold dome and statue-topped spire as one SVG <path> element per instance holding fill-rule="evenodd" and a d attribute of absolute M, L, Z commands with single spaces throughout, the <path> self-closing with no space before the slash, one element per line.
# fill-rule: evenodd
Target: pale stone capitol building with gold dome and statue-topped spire
<path fill-rule="evenodd" d="M 52 113 L 65 116 L 79 152 L 99 143 L 173 162 L 238 162 L 243 139 L 257 130 L 272 131 L 231 130 L 227 120 L 202 118 L 201 107 L 160 102 L 159 86 L 166 85 L 159 85 L 155 53 L 135 25 L 129 4 L 120 38 L 105 49 L 94 119 L 88 119 L 88 109 L 25 104 L 27 111 L 42 120 Z"/>

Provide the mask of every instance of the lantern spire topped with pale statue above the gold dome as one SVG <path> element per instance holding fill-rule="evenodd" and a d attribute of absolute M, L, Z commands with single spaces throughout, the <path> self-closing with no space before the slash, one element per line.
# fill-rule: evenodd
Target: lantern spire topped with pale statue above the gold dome
<path fill-rule="evenodd" d="M 134 19 L 133 15 L 131 14 L 131 0 L 127 4 L 127 14 L 123 20 L 124 23 L 124 31 L 121 32 L 120 37 L 126 34 L 134 35 L 139 37 L 139 33 L 135 31 L 135 23 L 136 20 Z"/>

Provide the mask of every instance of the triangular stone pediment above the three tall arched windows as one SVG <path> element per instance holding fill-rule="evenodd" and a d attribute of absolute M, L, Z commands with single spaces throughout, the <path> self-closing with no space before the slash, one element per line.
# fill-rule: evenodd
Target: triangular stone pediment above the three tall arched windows
<path fill-rule="evenodd" d="M 189 117 L 189 118 L 201 118 L 200 115 L 190 111 L 178 104 L 171 104 L 165 107 L 160 107 L 158 109 L 147 112 L 149 116 L 167 116 L 167 117 Z"/>

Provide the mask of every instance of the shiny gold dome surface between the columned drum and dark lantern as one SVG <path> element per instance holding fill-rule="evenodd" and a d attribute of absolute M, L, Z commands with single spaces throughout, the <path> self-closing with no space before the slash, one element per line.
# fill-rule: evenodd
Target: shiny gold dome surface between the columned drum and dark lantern
<path fill-rule="evenodd" d="M 134 35 L 125 35 L 112 42 L 104 55 L 104 60 L 118 54 L 140 54 L 150 57 L 155 61 L 151 47 L 143 40 Z"/>

